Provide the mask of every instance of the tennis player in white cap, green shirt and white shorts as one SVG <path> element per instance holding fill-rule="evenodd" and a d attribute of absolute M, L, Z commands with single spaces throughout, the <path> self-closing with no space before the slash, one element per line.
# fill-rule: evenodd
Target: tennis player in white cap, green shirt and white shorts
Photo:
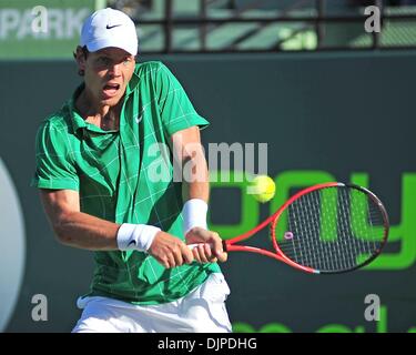
<path fill-rule="evenodd" d="M 206 227 L 209 122 L 163 63 L 136 53 L 126 14 L 90 16 L 74 53 L 83 83 L 37 135 L 32 184 L 54 233 L 94 251 L 73 332 L 231 332 L 226 253 Z M 191 179 L 174 179 L 176 161 Z"/>

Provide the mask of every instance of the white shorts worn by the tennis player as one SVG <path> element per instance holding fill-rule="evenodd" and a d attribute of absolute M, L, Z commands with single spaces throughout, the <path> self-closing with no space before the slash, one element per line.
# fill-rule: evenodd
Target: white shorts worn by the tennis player
<path fill-rule="evenodd" d="M 72 333 L 230 333 L 229 294 L 223 274 L 213 273 L 189 295 L 164 304 L 139 306 L 108 297 L 79 298 L 83 312 Z"/>

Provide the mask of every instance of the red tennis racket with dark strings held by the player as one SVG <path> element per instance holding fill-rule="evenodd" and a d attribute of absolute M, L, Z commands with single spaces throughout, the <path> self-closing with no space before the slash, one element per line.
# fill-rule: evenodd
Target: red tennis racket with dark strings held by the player
<path fill-rule="evenodd" d="M 274 251 L 239 244 L 266 226 Z M 373 192 L 332 182 L 297 192 L 255 229 L 223 241 L 223 247 L 262 254 L 307 273 L 344 273 L 376 258 L 388 229 L 386 209 Z"/>

